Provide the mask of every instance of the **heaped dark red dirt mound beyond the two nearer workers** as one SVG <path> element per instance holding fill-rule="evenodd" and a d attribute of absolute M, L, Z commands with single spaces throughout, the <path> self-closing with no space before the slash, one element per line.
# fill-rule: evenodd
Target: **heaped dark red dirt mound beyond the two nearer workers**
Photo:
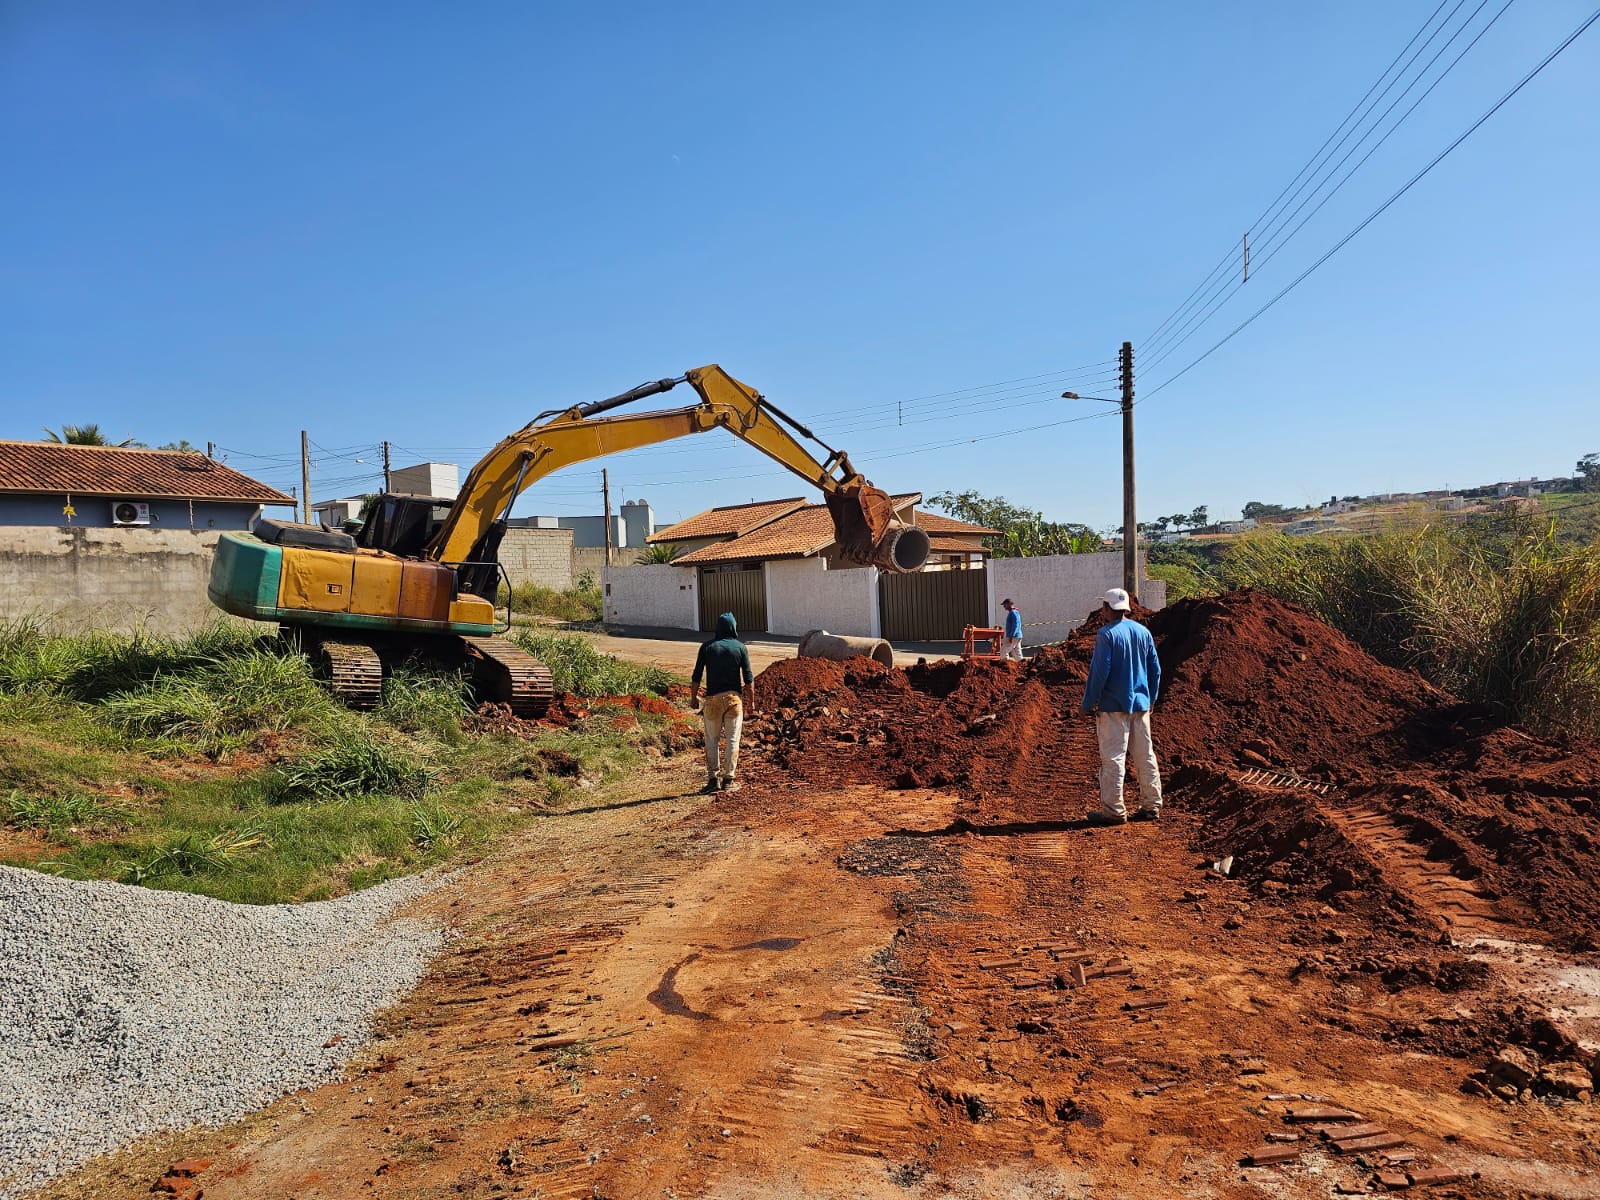
<path fill-rule="evenodd" d="M 747 723 L 765 750 L 755 778 L 947 787 L 974 819 L 1075 819 L 1096 803 L 1078 702 L 1102 624 L 1090 614 L 1026 664 L 778 662 Z M 1469 907 L 1595 942 L 1600 747 L 1506 728 L 1266 594 L 1182 602 L 1147 624 L 1157 752 L 1170 806 L 1200 818 L 1198 850 L 1373 922 L 1450 925 L 1411 899 L 1443 880 Z"/>

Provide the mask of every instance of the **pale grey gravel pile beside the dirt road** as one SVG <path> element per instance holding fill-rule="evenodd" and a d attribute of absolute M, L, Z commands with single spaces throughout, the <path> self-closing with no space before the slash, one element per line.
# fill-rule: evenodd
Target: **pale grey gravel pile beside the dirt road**
<path fill-rule="evenodd" d="M 0 1200 L 338 1078 L 440 949 L 395 909 L 445 878 L 254 907 L 0 867 Z"/>

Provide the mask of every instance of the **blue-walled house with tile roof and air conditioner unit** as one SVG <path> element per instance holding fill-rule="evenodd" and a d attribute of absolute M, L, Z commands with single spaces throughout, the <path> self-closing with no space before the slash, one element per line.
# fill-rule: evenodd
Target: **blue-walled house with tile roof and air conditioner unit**
<path fill-rule="evenodd" d="M 187 450 L 0 442 L 0 525 L 248 530 L 294 498 Z"/>

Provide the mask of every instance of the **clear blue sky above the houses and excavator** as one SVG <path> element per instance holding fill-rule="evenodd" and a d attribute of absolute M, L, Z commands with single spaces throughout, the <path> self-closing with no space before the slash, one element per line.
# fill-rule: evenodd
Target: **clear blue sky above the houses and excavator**
<path fill-rule="evenodd" d="M 1418 70 L 1474 8 L 8 0 L 0 437 L 210 440 L 288 490 L 304 427 L 322 499 L 374 488 L 384 438 L 466 467 L 541 410 L 718 362 L 883 486 L 1106 526 L 1114 408 L 1054 397 L 1126 339 L 1141 517 L 1566 474 L 1600 451 L 1600 26 L 1142 400 L 1592 0 L 1512 3 L 1155 363 L 1413 34 L 1454 11 Z M 1072 416 L 1112 419 L 958 442 Z M 518 512 L 597 510 L 600 466 Z M 605 466 L 662 522 L 805 491 L 720 434 Z"/>

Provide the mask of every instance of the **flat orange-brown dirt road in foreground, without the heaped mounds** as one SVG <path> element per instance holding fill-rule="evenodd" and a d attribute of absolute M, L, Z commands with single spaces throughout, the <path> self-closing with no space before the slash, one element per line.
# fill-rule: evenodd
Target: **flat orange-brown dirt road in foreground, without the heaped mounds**
<path fill-rule="evenodd" d="M 1090 746 L 1066 766 L 1088 795 Z M 1491 1106 L 1395 1046 L 1458 1013 L 1307 960 L 1339 922 L 1197 870 L 1190 821 L 1000 826 L 949 794 L 685 797 L 693 765 L 550 818 L 440 899 L 462 938 L 350 1080 L 122 1155 L 53 1197 L 1326 1197 L 1373 1178 L 1330 1101 L 1477 1173 L 1595 1195 L 1592 1106 Z M 971 814 L 968 814 L 970 819 Z M 1229 930 L 1230 918 L 1243 925 Z M 1304 934 L 1314 933 L 1314 938 Z M 1072 986 L 1074 965 L 1110 974 Z M 1126 974 L 1122 974 L 1126 968 Z M 1067 986 L 1061 986 L 1067 984 Z M 1296 1165 L 1242 1168 L 1269 1134 Z"/>

